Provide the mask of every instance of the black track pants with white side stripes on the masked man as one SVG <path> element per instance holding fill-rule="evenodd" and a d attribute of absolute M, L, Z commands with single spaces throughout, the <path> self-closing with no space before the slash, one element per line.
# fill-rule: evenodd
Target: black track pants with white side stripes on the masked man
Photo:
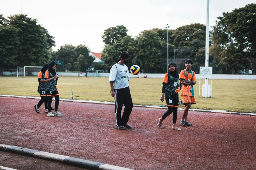
<path fill-rule="evenodd" d="M 115 120 L 116 126 L 126 124 L 132 111 L 132 99 L 129 86 L 124 89 L 114 89 L 115 91 Z M 123 105 L 124 113 L 121 118 L 121 111 Z"/>

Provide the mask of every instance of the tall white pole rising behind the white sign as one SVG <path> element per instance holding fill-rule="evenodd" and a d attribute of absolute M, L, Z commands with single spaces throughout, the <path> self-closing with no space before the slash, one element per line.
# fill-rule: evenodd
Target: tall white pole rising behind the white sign
<path fill-rule="evenodd" d="M 207 0 L 207 18 L 206 18 L 206 36 L 205 36 L 205 66 L 209 66 L 209 2 Z M 208 87 L 208 78 L 205 78 L 205 88 Z M 205 97 L 208 96 L 208 91 L 205 91 Z"/>

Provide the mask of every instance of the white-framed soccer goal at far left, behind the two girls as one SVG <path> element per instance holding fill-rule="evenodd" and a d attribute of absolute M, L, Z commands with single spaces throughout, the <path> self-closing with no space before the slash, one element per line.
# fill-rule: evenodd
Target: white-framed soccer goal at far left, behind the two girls
<path fill-rule="evenodd" d="M 37 76 L 43 66 L 24 66 L 17 68 L 17 77 Z"/>

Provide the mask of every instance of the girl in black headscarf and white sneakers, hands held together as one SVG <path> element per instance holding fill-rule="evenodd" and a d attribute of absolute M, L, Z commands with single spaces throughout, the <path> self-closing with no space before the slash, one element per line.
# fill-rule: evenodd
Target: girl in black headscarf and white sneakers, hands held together
<path fill-rule="evenodd" d="M 61 116 L 62 114 L 58 111 L 60 97 L 58 92 L 57 81 L 59 75 L 56 73 L 55 68 L 57 64 L 55 61 L 51 61 L 48 69 L 45 71 L 44 79 L 46 81 L 46 94 L 48 98 L 48 108 L 51 107 L 52 98 L 55 97 L 55 111 L 54 113 L 51 110 L 48 111 L 47 116 Z"/>

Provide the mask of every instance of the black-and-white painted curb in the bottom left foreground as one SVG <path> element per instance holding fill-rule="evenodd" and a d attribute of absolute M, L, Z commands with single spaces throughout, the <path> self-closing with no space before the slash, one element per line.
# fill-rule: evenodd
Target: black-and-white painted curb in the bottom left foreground
<path fill-rule="evenodd" d="M 87 168 L 87 169 L 92 169 L 92 170 L 132 170 L 132 169 L 123 168 L 120 166 L 114 166 L 114 165 L 109 165 L 109 164 L 105 164 L 105 163 L 93 162 L 93 161 L 74 158 L 74 157 L 70 157 L 70 156 L 58 155 L 58 154 L 54 154 L 54 153 L 43 152 L 43 151 L 27 149 L 27 148 L 21 148 L 21 147 L 5 145 L 5 144 L 0 144 L 0 151 L 6 151 L 6 152 L 14 153 L 14 154 L 30 156 L 30 157 L 35 157 L 35 158 L 39 158 L 39 159 L 45 159 L 48 161 L 60 162 L 60 163 L 64 163 L 67 165 L 76 166 L 79 168 Z M 0 170 L 1 170 L 1 168 L 6 168 L 6 167 L 0 166 Z M 14 169 L 10 169 L 10 170 L 14 170 Z"/>

